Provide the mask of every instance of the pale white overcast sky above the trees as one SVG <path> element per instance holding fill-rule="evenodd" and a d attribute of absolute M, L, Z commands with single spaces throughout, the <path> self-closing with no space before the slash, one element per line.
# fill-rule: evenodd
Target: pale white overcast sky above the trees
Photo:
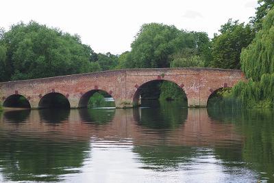
<path fill-rule="evenodd" d="M 144 23 L 205 31 L 210 38 L 229 18 L 249 22 L 257 0 L 1 0 L 0 27 L 35 20 L 79 35 L 96 53 L 121 54 Z"/>

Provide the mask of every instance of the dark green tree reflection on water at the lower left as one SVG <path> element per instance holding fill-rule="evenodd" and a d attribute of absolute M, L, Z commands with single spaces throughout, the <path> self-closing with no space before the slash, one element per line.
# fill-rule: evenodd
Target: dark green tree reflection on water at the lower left
<path fill-rule="evenodd" d="M 5 180 L 60 181 L 66 173 L 77 173 L 88 157 L 85 141 L 50 141 L 12 135 L 0 138 L 0 166 Z M 42 175 L 42 176 L 41 176 Z"/>

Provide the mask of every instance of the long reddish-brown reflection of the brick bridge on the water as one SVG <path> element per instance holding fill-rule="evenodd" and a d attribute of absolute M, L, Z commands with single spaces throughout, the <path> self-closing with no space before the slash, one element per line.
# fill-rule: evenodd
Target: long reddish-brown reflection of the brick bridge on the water
<path fill-rule="evenodd" d="M 82 111 L 83 110 L 83 111 Z M 6 111 L 0 118 L 0 128 L 5 132 L 18 132 L 31 137 L 58 139 L 75 139 L 90 141 L 90 138 L 109 141 L 132 139 L 134 145 L 192 145 L 208 147 L 223 143 L 241 143 L 242 137 L 235 132 L 233 124 L 212 121 L 207 109 L 182 109 L 182 122 L 170 129 L 153 129 L 140 124 L 139 109 L 116 109 L 114 116 L 106 124 L 96 124 L 96 119 L 86 113 L 86 109 L 71 110 L 56 117 L 50 113 L 37 110 Z M 86 111 L 85 111 L 86 110 Z M 187 111 L 186 111 L 187 110 Z M 42 110 L 44 111 L 44 110 Z M 54 112 L 54 111 L 53 111 Z M 18 123 L 16 116 L 22 121 Z M 48 117 L 51 119 L 48 119 Z M 55 116 L 55 117 L 53 117 Z M 53 119 L 54 118 L 54 119 Z M 12 123 L 12 121 L 16 123 Z M 18 125 L 20 124 L 20 125 Z M 54 132 L 49 135 L 50 132 Z"/>

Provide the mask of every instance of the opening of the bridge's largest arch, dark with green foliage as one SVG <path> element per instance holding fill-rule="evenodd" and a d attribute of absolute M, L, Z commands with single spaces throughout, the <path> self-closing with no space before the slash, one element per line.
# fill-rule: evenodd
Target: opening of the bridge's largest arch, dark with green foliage
<path fill-rule="evenodd" d="M 184 107 L 188 106 L 188 98 L 184 89 L 167 80 L 153 80 L 143 83 L 134 94 L 133 104 L 142 105 L 147 100 L 181 100 Z"/>

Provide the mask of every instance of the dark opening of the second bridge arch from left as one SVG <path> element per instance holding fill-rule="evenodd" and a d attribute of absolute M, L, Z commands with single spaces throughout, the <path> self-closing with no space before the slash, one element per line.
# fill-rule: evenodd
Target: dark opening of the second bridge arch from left
<path fill-rule="evenodd" d="M 69 103 L 69 100 L 60 93 L 49 93 L 43 96 L 40 99 L 40 102 L 38 104 L 38 108 L 40 109 L 70 109 L 71 104 Z"/>

